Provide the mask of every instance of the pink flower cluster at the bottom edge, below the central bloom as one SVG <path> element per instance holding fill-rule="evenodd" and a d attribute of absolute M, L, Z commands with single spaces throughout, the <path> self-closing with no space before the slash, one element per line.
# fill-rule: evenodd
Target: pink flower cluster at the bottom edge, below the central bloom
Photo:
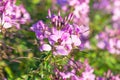
<path fill-rule="evenodd" d="M 60 71 L 55 70 L 56 78 L 61 80 L 95 80 L 94 70 L 86 60 L 84 63 L 79 61 L 70 60 Z"/>

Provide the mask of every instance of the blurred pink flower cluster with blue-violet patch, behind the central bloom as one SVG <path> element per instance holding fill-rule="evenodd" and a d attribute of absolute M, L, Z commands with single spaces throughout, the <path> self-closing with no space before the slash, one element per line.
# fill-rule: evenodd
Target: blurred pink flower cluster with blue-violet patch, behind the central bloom
<path fill-rule="evenodd" d="M 78 25 L 89 24 L 89 0 L 57 0 L 64 11 L 73 9 L 74 23 Z"/>

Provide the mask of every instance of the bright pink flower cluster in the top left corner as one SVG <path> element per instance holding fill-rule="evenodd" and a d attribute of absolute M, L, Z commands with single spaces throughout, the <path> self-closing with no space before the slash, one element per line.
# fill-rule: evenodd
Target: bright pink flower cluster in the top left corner
<path fill-rule="evenodd" d="M 30 21 L 30 15 L 23 5 L 17 6 L 16 0 L 0 0 L 0 32 L 2 28 L 12 26 L 20 28 L 20 24 Z"/>

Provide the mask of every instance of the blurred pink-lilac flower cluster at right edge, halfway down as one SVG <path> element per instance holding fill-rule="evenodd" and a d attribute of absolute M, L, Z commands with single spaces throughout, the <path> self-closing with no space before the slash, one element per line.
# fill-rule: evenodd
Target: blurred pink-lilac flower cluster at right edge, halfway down
<path fill-rule="evenodd" d="M 120 30 L 107 29 L 99 33 L 96 38 L 97 46 L 101 49 L 107 49 L 110 53 L 120 54 Z"/>

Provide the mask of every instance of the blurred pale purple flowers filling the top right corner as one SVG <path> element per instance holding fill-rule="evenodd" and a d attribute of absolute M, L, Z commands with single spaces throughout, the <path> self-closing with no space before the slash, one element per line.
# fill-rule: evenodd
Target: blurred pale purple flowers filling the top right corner
<path fill-rule="evenodd" d="M 120 29 L 120 0 L 99 0 L 95 1 L 94 8 L 110 14 L 112 27 Z"/>

